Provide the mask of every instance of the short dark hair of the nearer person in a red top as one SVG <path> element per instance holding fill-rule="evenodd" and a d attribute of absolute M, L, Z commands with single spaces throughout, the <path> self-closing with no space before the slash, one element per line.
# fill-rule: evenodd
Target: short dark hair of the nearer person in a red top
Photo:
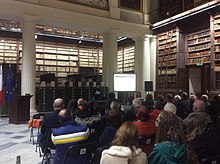
<path fill-rule="evenodd" d="M 146 106 L 140 105 L 135 109 L 135 115 L 138 120 L 141 120 L 142 122 L 147 121 L 150 119 L 149 111 Z"/>

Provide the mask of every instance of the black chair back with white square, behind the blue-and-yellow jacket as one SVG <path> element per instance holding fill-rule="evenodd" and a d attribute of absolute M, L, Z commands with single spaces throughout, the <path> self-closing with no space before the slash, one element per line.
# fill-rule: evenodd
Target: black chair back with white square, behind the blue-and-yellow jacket
<path fill-rule="evenodd" d="M 74 157 L 74 156 L 83 156 L 83 157 L 90 157 L 90 160 L 92 159 L 92 155 L 97 149 L 96 142 L 90 142 L 90 143 L 81 143 L 79 145 L 70 146 L 64 155 L 63 158 L 63 164 L 66 163 L 66 160 L 68 157 Z M 90 161 L 88 161 L 90 163 Z"/>

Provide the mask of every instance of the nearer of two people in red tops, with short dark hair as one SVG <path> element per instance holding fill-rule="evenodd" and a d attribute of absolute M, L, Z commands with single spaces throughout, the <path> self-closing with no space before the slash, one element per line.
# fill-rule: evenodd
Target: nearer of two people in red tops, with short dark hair
<path fill-rule="evenodd" d="M 138 129 L 139 138 L 149 137 L 149 136 L 153 136 L 152 139 L 155 138 L 156 135 L 155 122 L 150 118 L 148 109 L 144 105 L 141 105 L 135 109 L 135 114 L 137 120 L 134 121 L 134 125 Z M 145 152 L 148 156 L 153 150 L 154 142 L 152 141 L 152 143 L 150 143 L 149 145 L 147 144 L 144 145 L 139 144 L 139 145 L 142 151 Z"/>

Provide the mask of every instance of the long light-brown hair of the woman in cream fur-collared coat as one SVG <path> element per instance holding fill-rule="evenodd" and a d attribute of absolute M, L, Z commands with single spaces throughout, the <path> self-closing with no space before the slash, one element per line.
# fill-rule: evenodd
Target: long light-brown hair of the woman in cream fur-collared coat
<path fill-rule="evenodd" d="M 132 122 L 125 122 L 117 130 L 112 145 L 129 147 L 133 154 L 134 146 L 138 147 L 138 130 Z"/>

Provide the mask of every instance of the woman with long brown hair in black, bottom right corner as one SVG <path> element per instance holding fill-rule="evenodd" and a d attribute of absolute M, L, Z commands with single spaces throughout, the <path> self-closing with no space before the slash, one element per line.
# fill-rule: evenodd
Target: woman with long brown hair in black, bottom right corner
<path fill-rule="evenodd" d="M 213 155 L 220 156 L 220 135 L 214 129 L 208 114 L 205 112 L 190 113 L 185 126 L 187 139 L 200 162 Z"/>

